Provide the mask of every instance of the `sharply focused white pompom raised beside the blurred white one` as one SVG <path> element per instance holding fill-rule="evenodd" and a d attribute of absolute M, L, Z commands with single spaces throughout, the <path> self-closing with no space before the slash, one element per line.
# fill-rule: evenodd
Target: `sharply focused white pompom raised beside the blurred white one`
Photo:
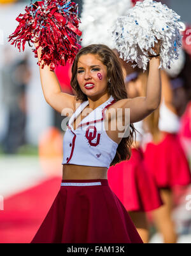
<path fill-rule="evenodd" d="M 122 59 L 146 70 L 150 60 L 147 56 L 155 55 L 152 47 L 160 40 L 159 68 L 169 68 L 172 60 L 178 59 L 181 47 L 179 20 L 180 16 L 165 4 L 138 2 L 111 28 L 113 46 Z"/>

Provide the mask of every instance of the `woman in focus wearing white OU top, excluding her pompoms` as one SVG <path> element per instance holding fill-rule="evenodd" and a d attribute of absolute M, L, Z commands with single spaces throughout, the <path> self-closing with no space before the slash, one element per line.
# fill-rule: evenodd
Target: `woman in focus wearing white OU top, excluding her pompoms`
<path fill-rule="evenodd" d="M 159 48 L 155 45 L 157 55 Z M 106 131 L 113 118 L 105 111 L 130 108 L 131 124 L 152 113 L 160 102 L 158 68 L 159 57 L 151 57 L 146 97 L 127 99 L 120 62 L 107 46 L 90 45 L 76 55 L 71 78 L 76 96 L 61 92 L 50 66 L 39 67 L 46 102 L 73 115 L 64 134 L 61 187 L 32 243 L 142 243 L 107 180 L 108 167 L 130 157 L 134 128 L 127 138 L 119 138 L 118 127 Z"/>

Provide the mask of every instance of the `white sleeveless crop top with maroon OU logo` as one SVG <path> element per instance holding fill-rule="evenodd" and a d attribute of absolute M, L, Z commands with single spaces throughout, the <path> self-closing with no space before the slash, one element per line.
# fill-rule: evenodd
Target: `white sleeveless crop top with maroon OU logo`
<path fill-rule="evenodd" d="M 110 167 L 118 144 L 106 133 L 104 117 L 106 109 L 113 103 L 115 99 L 111 96 L 108 101 L 83 118 L 74 130 L 73 121 L 88 105 L 88 101 L 81 103 L 69 119 L 64 134 L 62 164 Z"/>

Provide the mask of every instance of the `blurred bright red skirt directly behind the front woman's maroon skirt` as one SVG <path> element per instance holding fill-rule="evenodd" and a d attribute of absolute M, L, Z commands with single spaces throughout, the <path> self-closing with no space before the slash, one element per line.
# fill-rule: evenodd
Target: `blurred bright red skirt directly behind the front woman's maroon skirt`
<path fill-rule="evenodd" d="M 159 188 L 145 167 L 140 148 L 132 148 L 131 159 L 110 167 L 108 182 L 127 211 L 152 211 L 162 205 Z"/>

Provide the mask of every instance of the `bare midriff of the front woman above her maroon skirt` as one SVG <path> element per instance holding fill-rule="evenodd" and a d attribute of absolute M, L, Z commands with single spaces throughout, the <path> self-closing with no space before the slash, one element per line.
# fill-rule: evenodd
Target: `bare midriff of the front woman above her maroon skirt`
<path fill-rule="evenodd" d="M 108 178 L 108 168 L 94 166 L 77 166 L 64 164 L 62 168 L 63 180 L 97 180 Z"/>

